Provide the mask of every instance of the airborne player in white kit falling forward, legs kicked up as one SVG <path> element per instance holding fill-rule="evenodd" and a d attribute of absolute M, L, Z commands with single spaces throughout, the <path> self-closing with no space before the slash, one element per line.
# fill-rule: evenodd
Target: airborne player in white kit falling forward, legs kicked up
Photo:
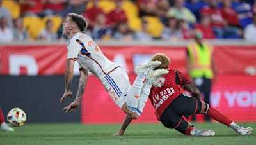
<path fill-rule="evenodd" d="M 153 69 L 161 64 L 159 61 L 148 62 L 147 64 L 136 67 L 136 77 L 131 85 L 127 73 L 122 67 L 111 62 L 100 50 L 93 39 L 81 33 L 86 29 L 87 22 L 83 16 L 76 13 L 68 14 L 68 18 L 63 22 L 63 35 L 69 38 L 67 46 L 67 67 L 65 72 L 65 92 L 60 102 L 67 97 L 72 97 L 70 85 L 73 78 L 74 62 L 79 64 L 80 79 L 76 94 L 76 99 L 67 107 L 63 108 L 66 112 L 76 111 L 79 107 L 84 88 L 88 81 L 88 71 L 92 72 L 100 79 L 109 95 L 127 114 L 136 119 L 143 111 L 145 102 L 147 102 L 150 88 L 154 79 L 168 73 L 167 70 Z M 145 83 L 144 80 L 146 79 Z M 95 86 L 97 87 L 97 86 Z"/>

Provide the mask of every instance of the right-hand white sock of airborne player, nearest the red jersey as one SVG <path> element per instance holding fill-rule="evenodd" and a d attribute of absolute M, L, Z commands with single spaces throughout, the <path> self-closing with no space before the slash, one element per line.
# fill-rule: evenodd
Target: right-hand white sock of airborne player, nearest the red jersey
<path fill-rule="evenodd" d="M 138 102 L 138 109 L 136 113 L 140 116 L 141 113 L 143 112 L 144 107 L 146 106 L 147 100 L 148 100 L 148 95 L 150 94 L 151 87 L 153 85 L 153 81 L 147 80 L 145 81 L 142 90 L 141 90 L 141 95 L 140 95 L 140 100 Z"/>

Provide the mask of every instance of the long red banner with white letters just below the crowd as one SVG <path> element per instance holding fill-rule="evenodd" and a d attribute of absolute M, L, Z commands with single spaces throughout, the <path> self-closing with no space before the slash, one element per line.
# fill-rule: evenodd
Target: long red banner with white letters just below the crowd
<path fill-rule="evenodd" d="M 172 68 L 186 71 L 185 46 L 101 46 L 104 54 L 120 64 L 129 74 L 134 66 L 148 61 L 154 53 L 165 53 Z M 0 46 L 2 70 L 5 75 L 59 75 L 65 72 L 65 45 Z M 256 67 L 256 46 L 215 46 L 218 73 L 244 74 Z M 76 68 L 76 71 L 78 69 Z M 79 74 L 78 72 L 76 72 Z"/>

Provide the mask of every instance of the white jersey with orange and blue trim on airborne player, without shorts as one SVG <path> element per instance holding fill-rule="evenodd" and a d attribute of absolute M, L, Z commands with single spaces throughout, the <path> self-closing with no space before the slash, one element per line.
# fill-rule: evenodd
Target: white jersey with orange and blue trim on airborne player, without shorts
<path fill-rule="evenodd" d="M 77 60 L 79 68 L 82 67 L 92 72 L 100 81 L 105 77 L 105 74 L 117 67 L 102 53 L 90 36 L 80 32 L 74 34 L 68 41 L 68 59 Z"/>

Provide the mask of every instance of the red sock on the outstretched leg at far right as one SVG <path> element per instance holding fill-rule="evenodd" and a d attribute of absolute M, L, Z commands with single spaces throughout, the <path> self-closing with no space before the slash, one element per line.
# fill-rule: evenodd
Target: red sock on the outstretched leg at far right
<path fill-rule="evenodd" d="M 207 115 L 209 115 L 214 120 L 227 125 L 228 127 L 230 123 L 232 123 L 232 120 L 230 120 L 225 114 L 221 113 L 221 111 L 215 109 L 214 107 L 209 108 Z"/>

